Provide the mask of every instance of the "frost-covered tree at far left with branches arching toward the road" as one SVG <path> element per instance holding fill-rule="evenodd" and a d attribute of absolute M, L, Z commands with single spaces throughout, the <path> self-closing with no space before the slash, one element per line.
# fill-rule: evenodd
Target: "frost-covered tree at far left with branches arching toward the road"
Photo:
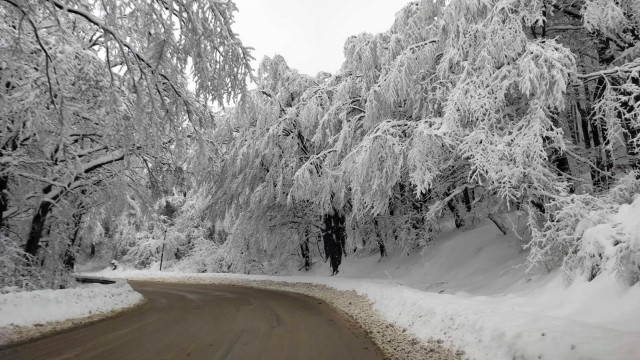
<path fill-rule="evenodd" d="M 210 126 L 209 106 L 241 94 L 250 72 L 235 10 L 212 0 L 1 1 L 3 231 L 24 235 L 36 255 L 62 201 L 104 187 L 123 161 L 170 151 L 185 126 Z"/>

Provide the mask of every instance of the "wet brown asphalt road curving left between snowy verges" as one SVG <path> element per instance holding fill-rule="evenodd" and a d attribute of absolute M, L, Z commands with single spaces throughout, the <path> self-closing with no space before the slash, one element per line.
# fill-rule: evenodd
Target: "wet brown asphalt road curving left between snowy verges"
<path fill-rule="evenodd" d="M 382 359 L 362 329 L 308 296 L 216 285 L 131 286 L 147 298 L 142 306 L 0 349 L 0 359 Z"/>

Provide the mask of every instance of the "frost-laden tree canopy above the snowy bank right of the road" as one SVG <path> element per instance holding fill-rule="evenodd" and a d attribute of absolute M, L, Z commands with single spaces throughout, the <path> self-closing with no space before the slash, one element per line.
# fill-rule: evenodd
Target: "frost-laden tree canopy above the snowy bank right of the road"
<path fill-rule="evenodd" d="M 557 266 L 580 246 L 559 236 L 576 225 L 561 204 L 589 212 L 585 196 L 633 187 L 637 12 L 622 0 L 421 1 L 387 32 L 347 39 L 336 75 L 269 60 L 244 115 L 227 118 L 234 165 L 214 190 L 235 189 L 225 209 L 246 226 L 260 223 L 246 212 L 309 204 L 322 234 L 344 226 L 343 250 L 421 246 L 447 219 L 506 232 L 501 214 L 518 211 L 531 265 Z"/>

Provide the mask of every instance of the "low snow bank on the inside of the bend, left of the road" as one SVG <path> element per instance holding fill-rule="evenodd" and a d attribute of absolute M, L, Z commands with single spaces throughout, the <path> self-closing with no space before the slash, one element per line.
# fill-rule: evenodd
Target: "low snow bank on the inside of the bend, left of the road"
<path fill-rule="evenodd" d="M 143 299 L 125 281 L 0 294 L 0 328 L 31 326 L 130 307 Z"/>

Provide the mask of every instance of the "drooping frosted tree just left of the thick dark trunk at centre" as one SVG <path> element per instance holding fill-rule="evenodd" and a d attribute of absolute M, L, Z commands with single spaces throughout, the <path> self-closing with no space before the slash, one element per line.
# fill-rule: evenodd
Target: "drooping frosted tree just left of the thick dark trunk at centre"
<path fill-rule="evenodd" d="M 246 261 L 250 255 L 271 259 L 298 249 L 306 241 L 298 235 L 316 232 L 321 215 L 304 204 L 287 206 L 293 174 L 315 151 L 297 112 L 307 101 L 304 94 L 318 83 L 275 56 L 262 61 L 257 85 L 218 119 L 212 143 L 223 144 L 214 150 L 222 161 L 205 179 L 214 194 L 213 216 L 233 224 L 230 256 Z"/>

